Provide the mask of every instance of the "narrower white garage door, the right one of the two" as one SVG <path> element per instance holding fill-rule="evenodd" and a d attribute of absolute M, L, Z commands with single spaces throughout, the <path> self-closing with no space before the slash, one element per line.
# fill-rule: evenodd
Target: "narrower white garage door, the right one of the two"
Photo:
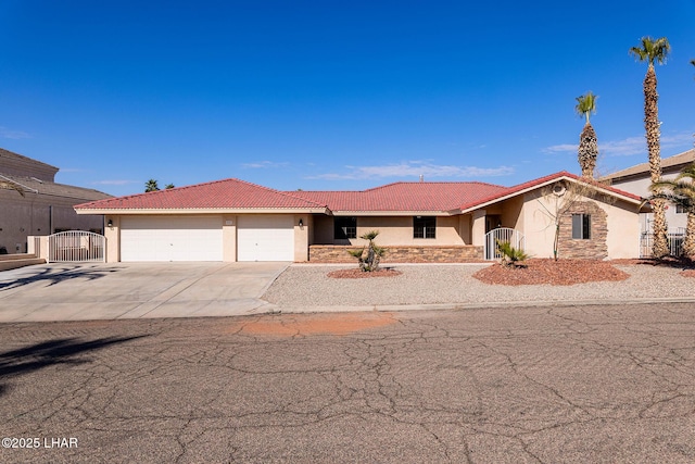
<path fill-rule="evenodd" d="M 238 261 L 294 261 L 294 218 L 288 215 L 239 216 Z"/>

